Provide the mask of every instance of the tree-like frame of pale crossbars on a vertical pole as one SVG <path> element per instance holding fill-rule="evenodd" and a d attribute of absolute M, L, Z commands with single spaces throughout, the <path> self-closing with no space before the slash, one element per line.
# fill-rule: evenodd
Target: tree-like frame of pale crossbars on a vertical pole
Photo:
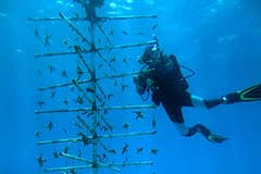
<path fill-rule="evenodd" d="M 97 3 L 96 3 L 97 2 Z M 116 105 L 116 107 L 105 107 L 105 98 L 107 95 L 103 91 L 102 87 L 98 84 L 98 82 L 103 79 L 114 79 L 114 78 L 121 78 L 126 76 L 133 76 L 138 74 L 139 72 L 132 72 L 126 74 L 116 74 L 116 71 L 114 67 L 109 63 L 109 61 L 103 57 L 101 53 L 102 50 L 114 50 L 114 49 L 124 49 L 124 48 L 133 48 L 133 47 L 140 47 L 146 46 L 156 42 L 157 40 L 151 41 L 145 41 L 145 42 L 138 42 L 138 44 L 130 44 L 130 45 L 120 45 L 114 46 L 110 38 L 105 35 L 105 32 L 101 27 L 100 23 L 109 22 L 109 21 L 121 21 L 121 20 L 132 20 L 132 18 L 154 18 L 157 15 L 129 15 L 129 16 L 98 16 L 97 15 L 97 8 L 100 8 L 102 5 L 102 1 L 98 0 L 79 0 L 78 3 L 82 4 L 82 7 L 85 9 L 86 17 L 67 17 L 62 12 L 59 13 L 60 17 L 29 17 L 28 20 L 30 22 L 53 22 L 53 21 L 63 21 L 65 22 L 69 27 L 83 40 L 84 44 L 88 46 L 88 49 L 83 49 L 83 47 L 75 45 L 73 47 L 74 51 L 67 51 L 67 52 L 49 52 L 49 53 L 41 53 L 41 54 L 35 54 L 35 58 L 42 59 L 42 58 L 50 58 L 50 57 L 61 57 L 61 55 L 77 55 L 79 61 L 84 64 L 86 72 L 88 73 L 88 78 L 86 79 L 72 79 L 71 82 L 65 82 L 62 84 L 54 84 L 52 86 L 47 87 L 40 87 L 38 90 L 40 92 L 44 91 L 50 91 L 53 89 L 60 89 L 63 87 L 74 86 L 78 94 L 83 96 L 83 98 L 88 102 L 88 105 L 86 108 L 74 108 L 74 109 L 53 109 L 53 110 L 36 110 L 35 113 L 37 115 L 40 114 L 55 114 L 55 113 L 71 113 L 71 112 L 80 112 L 80 113 L 90 113 L 90 120 L 88 122 L 91 122 L 91 126 L 88 122 L 86 122 L 80 116 L 77 116 L 77 121 L 82 124 L 83 127 L 89 133 L 89 135 L 82 134 L 79 137 L 69 137 L 65 139 L 52 139 L 52 140 L 41 140 L 37 141 L 38 146 L 45 146 L 45 145 L 55 145 L 55 144 L 64 144 L 64 142 L 84 142 L 89 144 L 92 146 L 91 150 L 91 160 L 87 160 L 86 158 L 77 157 L 74 154 L 70 154 L 67 152 L 60 152 L 58 156 L 62 158 L 66 158 L 74 161 L 82 161 L 86 162 L 86 165 L 76 165 L 76 166 L 64 166 L 64 167 L 48 167 L 45 169 L 45 172 L 70 172 L 73 173 L 73 171 L 80 171 L 85 169 L 92 169 L 92 174 L 98 173 L 99 167 L 108 167 L 115 172 L 121 172 L 121 166 L 126 165 L 152 165 L 153 161 L 135 161 L 135 162 L 122 162 L 122 163 L 103 163 L 98 160 L 98 145 L 103 147 L 103 149 L 108 148 L 105 145 L 103 145 L 102 140 L 104 138 L 114 138 L 114 137 L 133 137 L 133 136 L 148 136 L 148 135 L 156 135 L 157 130 L 148 130 L 148 132 L 136 132 L 136 133 L 124 133 L 124 134 L 98 134 L 98 119 L 100 119 L 104 125 L 110 129 L 111 124 L 105 119 L 105 111 L 109 110 L 134 110 L 134 109 L 154 109 L 156 105 L 153 104 L 139 104 L 139 105 Z M 85 37 L 84 33 L 78 29 L 78 27 L 74 24 L 74 22 L 89 22 L 90 29 L 89 29 L 89 36 L 90 38 Z M 101 34 L 104 36 L 104 39 L 108 41 L 108 47 L 97 48 L 95 45 L 95 32 L 96 28 L 98 28 Z M 86 61 L 85 54 L 90 54 L 90 63 Z M 109 69 L 113 71 L 113 74 L 107 75 L 103 77 L 97 77 L 97 67 L 96 67 L 96 59 L 100 58 L 104 64 L 108 65 Z M 91 89 L 91 92 L 86 92 L 83 84 L 88 84 L 89 88 Z M 99 96 L 99 94 L 101 94 Z M 44 162 L 44 157 L 37 158 L 38 162 Z"/>

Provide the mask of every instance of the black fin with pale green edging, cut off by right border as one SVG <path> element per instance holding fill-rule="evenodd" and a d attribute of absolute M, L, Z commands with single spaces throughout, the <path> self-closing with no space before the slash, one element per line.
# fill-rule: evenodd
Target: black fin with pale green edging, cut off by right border
<path fill-rule="evenodd" d="M 251 86 L 240 91 L 232 92 L 223 98 L 223 103 L 261 101 L 261 84 Z"/>

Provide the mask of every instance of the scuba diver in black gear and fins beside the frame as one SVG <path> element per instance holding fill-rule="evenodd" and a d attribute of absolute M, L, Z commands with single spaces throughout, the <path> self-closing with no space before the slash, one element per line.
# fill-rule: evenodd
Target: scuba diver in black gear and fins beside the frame
<path fill-rule="evenodd" d="M 222 96 L 217 99 L 209 100 L 195 96 L 187 90 L 189 85 L 181 71 L 181 67 L 184 66 L 178 64 L 174 54 L 165 55 L 159 48 L 157 39 L 156 41 L 156 44 L 146 47 L 144 54 L 138 60 L 139 63 L 144 64 L 144 67 L 134 77 L 136 89 L 142 97 L 142 100 L 147 100 L 151 91 L 151 99 L 154 104 L 160 105 L 162 103 L 166 114 L 183 136 L 191 137 L 196 133 L 199 133 L 212 142 L 222 142 L 228 139 L 213 134 L 207 126 L 200 123 L 187 127 L 184 123 L 182 108 L 204 107 L 211 109 L 219 104 L 259 101 L 261 100 L 261 84 Z M 144 98 L 146 91 L 148 96 Z"/>

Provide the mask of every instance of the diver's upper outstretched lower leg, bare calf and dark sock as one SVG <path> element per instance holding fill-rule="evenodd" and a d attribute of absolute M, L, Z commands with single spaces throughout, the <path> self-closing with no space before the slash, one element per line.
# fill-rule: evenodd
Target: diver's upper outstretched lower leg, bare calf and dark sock
<path fill-rule="evenodd" d="M 207 100 L 207 99 L 203 99 L 201 97 L 191 95 L 191 103 L 192 103 L 194 107 L 204 107 L 207 109 L 211 109 L 211 108 L 216 107 L 216 105 L 219 105 L 223 102 L 224 102 L 224 100 L 222 98 L 221 99 Z"/>

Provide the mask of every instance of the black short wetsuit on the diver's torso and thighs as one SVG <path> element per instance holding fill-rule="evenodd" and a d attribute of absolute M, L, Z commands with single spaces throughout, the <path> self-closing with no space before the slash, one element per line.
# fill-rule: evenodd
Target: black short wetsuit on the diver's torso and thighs
<path fill-rule="evenodd" d="M 158 105 L 161 102 L 173 122 L 184 123 L 182 107 L 192 107 L 191 95 L 187 91 L 188 83 L 183 77 L 176 57 L 161 55 L 157 63 L 147 69 L 154 70 L 141 75 L 154 82 L 150 86 L 153 102 Z"/>

